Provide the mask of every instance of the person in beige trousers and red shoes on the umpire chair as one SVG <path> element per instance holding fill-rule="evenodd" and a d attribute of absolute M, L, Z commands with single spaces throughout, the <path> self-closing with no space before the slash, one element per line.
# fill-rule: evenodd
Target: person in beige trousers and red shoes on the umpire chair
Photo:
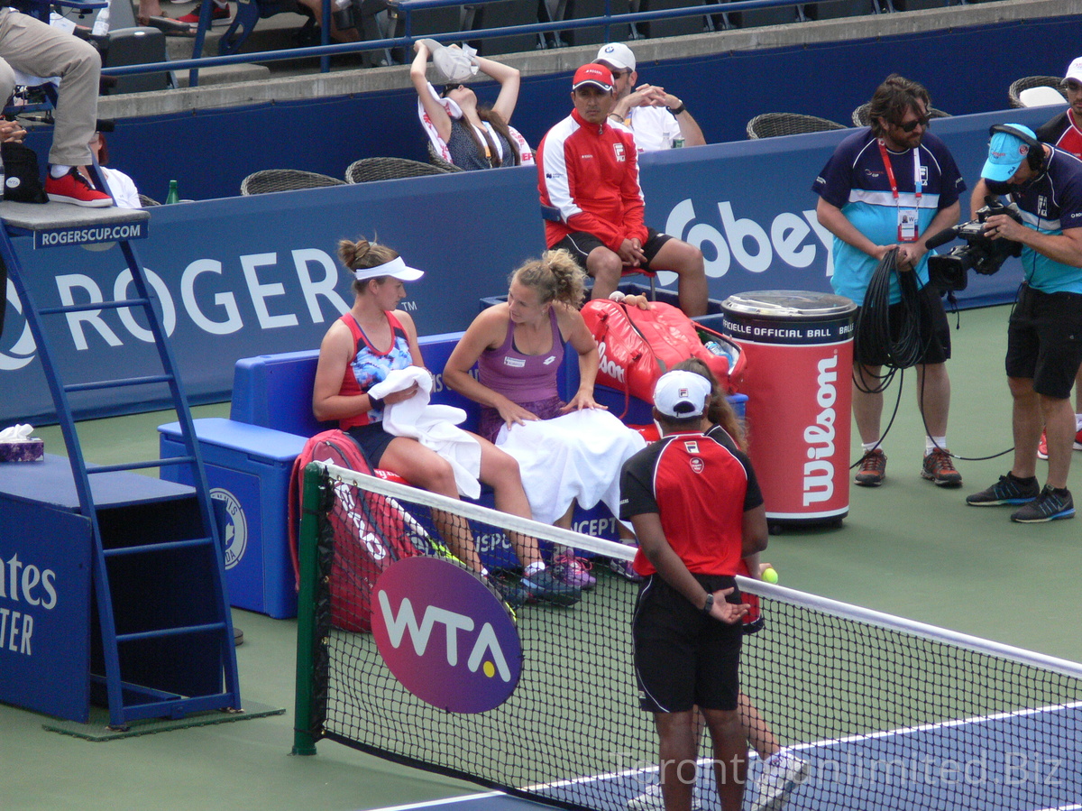
<path fill-rule="evenodd" d="M 15 90 L 14 70 L 58 76 L 53 143 L 45 194 L 55 202 L 104 208 L 113 199 L 84 174 L 97 120 L 102 58 L 85 40 L 72 37 L 14 9 L 0 9 L 0 99 Z M 82 171 L 80 171 L 82 170 Z"/>

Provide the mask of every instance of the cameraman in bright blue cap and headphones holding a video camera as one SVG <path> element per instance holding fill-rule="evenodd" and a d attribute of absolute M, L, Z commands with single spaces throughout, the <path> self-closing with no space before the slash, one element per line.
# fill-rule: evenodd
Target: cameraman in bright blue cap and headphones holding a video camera
<path fill-rule="evenodd" d="M 1021 243 L 1025 282 L 1007 323 L 1006 372 L 1014 397 L 1014 465 L 974 507 L 1021 505 L 1012 521 L 1041 523 L 1074 516 L 1067 489 L 1074 441 L 1070 393 L 1082 364 L 1082 161 L 1040 143 L 1028 127 L 995 125 L 988 159 L 973 189 L 974 212 L 986 195 L 1010 194 L 1022 222 L 994 214 L 991 239 Z M 1037 481 L 1041 429 L 1048 443 L 1048 476 Z"/>

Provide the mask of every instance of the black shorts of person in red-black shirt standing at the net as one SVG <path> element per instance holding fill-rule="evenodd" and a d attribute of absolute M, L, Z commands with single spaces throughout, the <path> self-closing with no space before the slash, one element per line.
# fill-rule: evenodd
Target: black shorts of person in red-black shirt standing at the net
<path fill-rule="evenodd" d="M 708 591 L 736 585 L 724 575 L 695 575 Z M 734 591 L 727 602 L 740 602 Z M 741 624 L 708 617 L 661 575 L 638 590 L 632 637 L 639 704 L 648 712 L 684 712 L 695 706 L 733 710 L 740 693 Z"/>

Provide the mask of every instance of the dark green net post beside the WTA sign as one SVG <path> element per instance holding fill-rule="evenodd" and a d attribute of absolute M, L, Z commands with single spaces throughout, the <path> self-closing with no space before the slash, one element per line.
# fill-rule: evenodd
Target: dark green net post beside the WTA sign
<path fill-rule="evenodd" d="M 322 468 L 312 463 L 304 469 L 301 497 L 301 527 L 296 548 L 301 564 L 296 600 L 296 686 L 293 710 L 293 755 L 315 755 L 312 734 L 312 701 L 315 688 L 313 651 L 316 638 L 316 577 L 318 577 L 319 521 Z"/>

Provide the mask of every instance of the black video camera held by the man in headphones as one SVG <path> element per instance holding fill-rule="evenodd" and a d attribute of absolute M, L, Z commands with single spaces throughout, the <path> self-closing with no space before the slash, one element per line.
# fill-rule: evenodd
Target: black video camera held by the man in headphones
<path fill-rule="evenodd" d="M 985 221 L 993 214 L 1006 214 L 1021 222 L 1021 213 L 1015 204 L 1004 206 L 998 197 L 989 195 L 985 198 L 985 207 L 977 211 L 976 220 L 940 231 L 927 240 L 928 250 L 946 245 L 955 237 L 966 243 L 951 248 L 945 256 L 928 258 L 928 280 L 940 291 L 964 290 L 965 272 L 971 267 L 977 273 L 991 276 L 1008 257 L 1021 256 L 1021 243 L 992 239 L 985 235 Z"/>

